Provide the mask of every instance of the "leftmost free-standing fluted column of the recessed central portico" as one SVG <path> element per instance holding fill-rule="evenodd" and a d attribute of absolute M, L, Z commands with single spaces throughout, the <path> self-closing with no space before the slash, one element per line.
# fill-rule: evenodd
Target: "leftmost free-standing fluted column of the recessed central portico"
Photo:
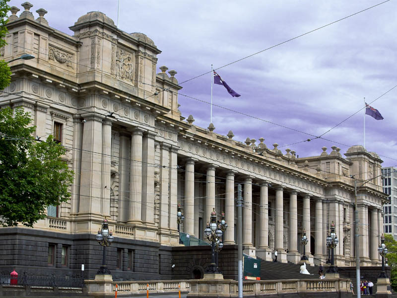
<path fill-rule="evenodd" d="M 186 161 L 185 172 L 185 233 L 195 233 L 195 160 Z"/>

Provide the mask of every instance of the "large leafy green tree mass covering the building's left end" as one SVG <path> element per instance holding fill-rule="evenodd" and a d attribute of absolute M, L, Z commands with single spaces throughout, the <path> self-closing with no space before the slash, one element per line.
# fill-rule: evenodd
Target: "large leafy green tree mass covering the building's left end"
<path fill-rule="evenodd" d="M 73 171 L 61 159 L 66 149 L 50 135 L 35 142 L 30 113 L 0 110 L 0 224 L 33 226 L 45 208 L 70 198 Z"/>

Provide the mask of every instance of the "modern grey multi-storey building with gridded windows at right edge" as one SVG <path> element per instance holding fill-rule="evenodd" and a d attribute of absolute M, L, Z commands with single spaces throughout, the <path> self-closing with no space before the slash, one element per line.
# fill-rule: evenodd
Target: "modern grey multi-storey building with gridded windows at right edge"
<path fill-rule="evenodd" d="M 397 168 L 382 168 L 382 183 L 383 192 L 389 196 L 388 202 L 383 206 L 384 232 L 397 240 Z"/>

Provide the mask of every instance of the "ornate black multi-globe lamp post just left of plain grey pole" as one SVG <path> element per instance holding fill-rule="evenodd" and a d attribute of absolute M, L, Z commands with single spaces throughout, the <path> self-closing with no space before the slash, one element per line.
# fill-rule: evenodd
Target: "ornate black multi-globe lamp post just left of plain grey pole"
<path fill-rule="evenodd" d="M 225 224 L 223 225 L 222 222 L 224 222 Z M 204 230 L 205 236 L 209 241 L 211 241 L 211 264 L 209 264 L 209 266 L 205 270 L 205 273 L 222 274 L 222 272 L 219 270 L 218 266 L 216 265 L 215 244 L 218 243 L 218 249 L 220 246 L 223 247 L 223 243 L 221 242 L 223 235 L 222 226 L 223 228 L 225 228 L 225 225 L 226 222 L 224 220 L 224 217 L 222 218 L 219 224 L 216 223 L 216 212 L 215 212 L 215 208 L 213 208 L 211 212 L 211 222 L 207 223 L 207 226 Z"/>

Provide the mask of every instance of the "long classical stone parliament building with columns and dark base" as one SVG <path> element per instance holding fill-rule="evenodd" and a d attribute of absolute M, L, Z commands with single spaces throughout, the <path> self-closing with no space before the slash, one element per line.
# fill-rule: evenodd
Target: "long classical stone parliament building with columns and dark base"
<path fill-rule="evenodd" d="M 263 138 L 243 143 L 232 131 L 224 136 L 212 124 L 198 127 L 178 110 L 177 72 L 156 65 L 161 51 L 145 34 L 128 34 L 104 13 L 88 12 L 70 36 L 49 26 L 45 9 L 35 18 L 32 6 L 23 3 L 19 16 L 11 8 L 1 59 L 35 59 L 9 64 L 12 79 L 0 106 L 29 111 L 42 140 L 55 134 L 74 182 L 70 201 L 49 206 L 34 228 L 0 228 L 0 271 L 69 275 L 84 264 L 93 277 L 102 258 L 95 235 L 106 217 L 115 236 L 107 255 L 114 276 L 172 279 L 173 248 L 181 248 L 178 202 L 186 218 L 181 232 L 203 240 L 212 208 L 218 216 L 224 211 L 223 242 L 233 248 L 237 184 L 246 254 L 271 260 L 277 250 L 281 262 L 297 263 L 306 230 L 310 262 L 319 264 L 328 256 L 333 221 L 335 262 L 355 266 L 357 208 L 361 266 L 380 264 L 387 195 L 375 152 L 354 146 L 343 157 L 339 148 L 323 147 L 318 156 L 298 158 L 277 144 L 268 148 Z M 357 205 L 353 175 L 369 180 L 358 189 Z"/>

